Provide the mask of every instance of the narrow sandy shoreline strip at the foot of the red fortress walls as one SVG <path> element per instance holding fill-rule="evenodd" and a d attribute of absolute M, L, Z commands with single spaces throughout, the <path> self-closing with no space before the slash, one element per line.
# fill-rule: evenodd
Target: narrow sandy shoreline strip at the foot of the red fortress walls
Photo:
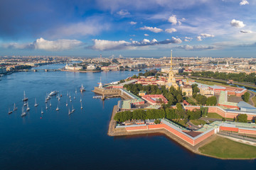
<path fill-rule="evenodd" d="M 199 154 L 205 157 L 213 157 L 215 159 L 223 159 L 223 160 L 249 160 L 249 159 L 256 159 L 256 158 L 221 158 L 221 157 L 215 157 L 212 155 L 208 154 L 203 154 L 198 151 L 198 148 L 203 147 L 203 145 L 206 145 L 218 137 L 218 135 L 212 135 L 208 137 L 207 140 L 203 140 L 202 142 L 198 143 L 198 145 L 192 146 L 187 144 L 185 141 L 181 140 L 179 137 L 176 137 L 176 135 L 172 134 L 168 130 L 165 129 L 157 129 L 157 130 L 136 130 L 132 132 L 127 132 L 125 128 L 119 128 L 119 130 L 114 129 L 116 126 L 117 122 L 114 120 L 114 115 L 116 114 L 117 111 L 117 105 L 113 107 L 112 110 L 112 115 L 109 123 L 109 127 L 107 130 L 107 135 L 109 136 L 126 136 L 126 135 L 143 135 L 143 134 L 151 134 L 151 133 L 161 133 L 162 135 L 168 137 L 170 140 L 173 140 L 176 142 L 178 145 L 181 145 L 181 147 L 185 147 L 188 149 L 190 152 L 193 152 L 194 154 Z"/>

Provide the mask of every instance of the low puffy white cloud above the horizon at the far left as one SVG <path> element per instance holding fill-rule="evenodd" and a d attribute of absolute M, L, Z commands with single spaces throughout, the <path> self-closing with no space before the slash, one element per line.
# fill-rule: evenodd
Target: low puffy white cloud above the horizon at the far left
<path fill-rule="evenodd" d="M 32 43 L 9 43 L 4 44 L 3 47 L 16 48 L 16 49 L 35 49 L 35 50 L 47 50 L 47 51 L 60 51 L 60 50 L 70 50 L 75 47 L 82 45 L 79 40 L 45 40 L 43 38 L 38 38 Z"/>

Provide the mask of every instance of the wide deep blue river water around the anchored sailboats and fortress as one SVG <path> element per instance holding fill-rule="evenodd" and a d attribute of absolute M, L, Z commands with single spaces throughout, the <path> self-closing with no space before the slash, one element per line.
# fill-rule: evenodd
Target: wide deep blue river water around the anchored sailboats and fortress
<path fill-rule="evenodd" d="M 64 64 L 40 69 L 61 67 Z M 100 77 L 102 83 L 108 83 L 137 73 L 18 72 L 2 77 L 0 169 L 256 169 L 255 160 L 203 157 L 161 134 L 107 136 L 112 108 L 119 98 L 94 99 L 93 86 L 97 86 Z M 86 89 L 82 94 L 81 84 Z M 46 110 L 46 93 L 55 90 L 63 96 L 60 101 L 55 97 L 50 99 L 52 106 L 48 103 Z M 21 118 L 23 91 L 31 110 Z M 39 103 L 37 108 L 33 106 L 35 98 Z M 8 115 L 14 103 L 18 110 Z M 57 106 L 60 111 L 55 111 Z M 68 115 L 72 106 L 75 112 Z"/>

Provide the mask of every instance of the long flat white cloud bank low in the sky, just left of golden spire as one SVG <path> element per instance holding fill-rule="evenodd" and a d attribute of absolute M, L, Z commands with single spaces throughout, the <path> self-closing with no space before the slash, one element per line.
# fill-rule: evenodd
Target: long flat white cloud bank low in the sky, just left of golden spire
<path fill-rule="evenodd" d="M 141 40 L 141 41 L 134 41 L 127 42 L 124 40 L 119 41 L 110 41 L 110 40 L 93 40 L 94 45 L 90 46 L 93 50 L 132 50 L 136 47 L 144 47 L 149 45 L 164 45 L 164 44 L 178 44 L 181 43 L 182 40 L 180 38 L 172 37 L 171 40 L 166 39 L 163 41 L 157 41 L 156 39 L 153 40 Z"/>

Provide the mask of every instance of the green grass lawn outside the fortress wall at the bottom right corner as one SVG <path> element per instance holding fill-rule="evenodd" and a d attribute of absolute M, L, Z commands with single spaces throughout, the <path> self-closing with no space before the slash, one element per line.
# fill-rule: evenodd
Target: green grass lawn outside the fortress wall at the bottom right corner
<path fill-rule="evenodd" d="M 203 154 L 220 158 L 255 158 L 256 147 L 245 145 L 225 137 L 217 137 L 216 140 L 198 149 Z"/>

